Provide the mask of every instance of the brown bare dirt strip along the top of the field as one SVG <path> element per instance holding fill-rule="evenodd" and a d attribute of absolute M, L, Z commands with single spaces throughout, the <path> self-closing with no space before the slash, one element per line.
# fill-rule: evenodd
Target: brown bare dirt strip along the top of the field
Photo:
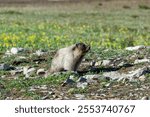
<path fill-rule="evenodd" d="M 71 5 L 71 4 L 90 4 L 96 7 L 108 8 L 134 8 L 138 5 L 150 5 L 149 0 L 0 0 L 0 6 L 24 6 L 24 5 Z"/>

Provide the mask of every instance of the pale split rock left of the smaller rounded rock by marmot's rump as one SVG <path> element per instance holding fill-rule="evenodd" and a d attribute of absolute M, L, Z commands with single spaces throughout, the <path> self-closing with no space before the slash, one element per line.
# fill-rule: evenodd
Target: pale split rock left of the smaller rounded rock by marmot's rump
<path fill-rule="evenodd" d="M 30 75 L 33 75 L 35 71 L 36 71 L 35 68 L 30 68 L 29 66 L 23 68 L 23 74 L 25 75 L 26 78 L 29 78 Z"/>

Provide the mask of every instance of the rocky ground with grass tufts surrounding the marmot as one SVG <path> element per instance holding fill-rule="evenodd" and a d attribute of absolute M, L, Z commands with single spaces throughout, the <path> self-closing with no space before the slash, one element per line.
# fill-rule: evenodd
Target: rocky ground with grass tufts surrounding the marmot
<path fill-rule="evenodd" d="M 44 75 L 55 51 L 1 52 L 0 99 L 150 99 L 150 47 L 97 51 L 78 72 L 49 77 Z"/>

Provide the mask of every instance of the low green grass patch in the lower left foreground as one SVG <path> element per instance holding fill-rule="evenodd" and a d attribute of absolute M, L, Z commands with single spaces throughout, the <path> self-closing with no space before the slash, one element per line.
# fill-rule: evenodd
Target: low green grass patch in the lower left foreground
<path fill-rule="evenodd" d="M 52 87 L 61 86 L 69 74 L 50 76 L 48 78 L 35 78 L 35 79 L 24 79 L 20 77 L 18 79 L 0 79 L 0 99 L 5 99 L 7 96 L 15 97 L 14 91 L 17 91 L 16 96 L 24 96 L 30 99 L 41 99 L 42 95 L 39 92 L 29 91 L 31 86 L 47 85 Z M 22 92 L 22 90 L 24 90 Z M 5 97 L 6 96 L 6 97 Z"/>

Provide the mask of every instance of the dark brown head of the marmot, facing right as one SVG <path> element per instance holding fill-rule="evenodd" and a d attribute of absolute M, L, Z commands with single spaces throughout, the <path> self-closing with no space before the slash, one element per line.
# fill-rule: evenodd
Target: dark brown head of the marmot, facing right
<path fill-rule="evenodd" d="M 75 44 L 74 50 L 78 50 L 82 55 L 86 54 L 90 50 L 90 46 L 85 45 L 84 43 Z"/>

